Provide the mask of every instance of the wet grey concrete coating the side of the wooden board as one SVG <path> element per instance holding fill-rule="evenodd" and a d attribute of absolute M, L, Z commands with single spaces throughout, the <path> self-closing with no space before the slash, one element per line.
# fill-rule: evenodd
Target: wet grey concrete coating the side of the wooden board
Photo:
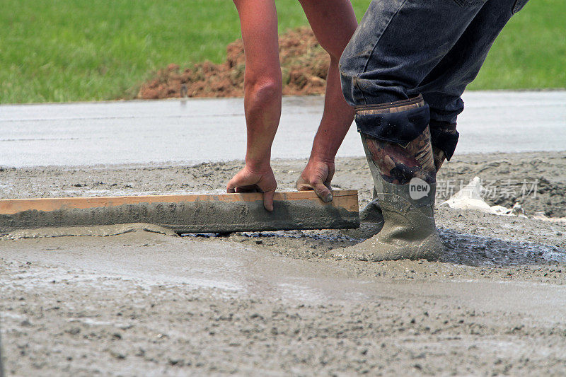
<path fill-rule="evenodd" d="M 310 199 L 275 200 L 272 212 L 265 210 L 262 200 L 137 203 L 0 214 L 0 236 L 16 229 L 129 223 L 156 224 L 176 233 L 287 231 L 357 228 L 359 215 L 357 211 Z"/>

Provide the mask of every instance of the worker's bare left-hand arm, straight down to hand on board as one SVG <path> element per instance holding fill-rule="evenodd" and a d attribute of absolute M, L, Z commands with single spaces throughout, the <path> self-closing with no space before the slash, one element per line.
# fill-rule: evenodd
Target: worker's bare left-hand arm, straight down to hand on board
<path fill-rule="evenodd" d="M 263 192 L 273 210 L 277 188 L 271 169 L 271 145 L 281 117 L 282 77 L 279 66 L 277 12 L 274 0 L 233 0 L 238 9 L 246 54 L 244 110 L 248 129 L 246 166 L 228 183 L 228 192 Z"/>

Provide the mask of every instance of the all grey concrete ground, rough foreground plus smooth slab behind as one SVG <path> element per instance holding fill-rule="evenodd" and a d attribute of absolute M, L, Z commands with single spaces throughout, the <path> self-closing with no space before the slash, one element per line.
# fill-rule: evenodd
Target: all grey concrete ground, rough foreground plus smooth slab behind
<path fill-rule="evenodd" d="M 478 175 L 507 188 L 490 204 L 519 202 L 528 216 L 439 206 L 439 262 L 322 257 L 356 242 L 347 231 L 178 237 L 125 226 L 0 240 L 6 373 L 563 375 L 566 231 L 533 214 L 566 216 L 565 93 L 467 93 L 461 145 L 439 182 Z M 285 99 L 312 106 L 284 115 L 276 157 L 308 155 L 321 100 Z M 0 122 L 0 166 L 21 167 L 0 169 L 4 198 L 223 192 L 242 166 L 166 162 L 241 158 L 238 99 L 0 106 Z M 342 156 L 357 155 L 357 134 L 348 138 Z M 558 151 L 463 154 L 466 139 L 478 151 Z M 305 163 L 273 163 L 280 190 Z M 42 164 L 59 166 L 29 167 Z M 364 158 L 338 158 L 333 185 L 369 202 Z"/>

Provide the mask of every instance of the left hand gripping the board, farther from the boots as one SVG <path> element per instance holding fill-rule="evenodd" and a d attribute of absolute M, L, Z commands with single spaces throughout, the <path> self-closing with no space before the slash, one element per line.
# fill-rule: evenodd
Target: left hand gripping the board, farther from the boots
<path fill-rule="evenodd" d="M 226 192 L 263 192 L 263 207 L 273 211 L 273 196 L 277 182 L 270 165 L 251 168 L 246 165 L 228 182 Z"/>

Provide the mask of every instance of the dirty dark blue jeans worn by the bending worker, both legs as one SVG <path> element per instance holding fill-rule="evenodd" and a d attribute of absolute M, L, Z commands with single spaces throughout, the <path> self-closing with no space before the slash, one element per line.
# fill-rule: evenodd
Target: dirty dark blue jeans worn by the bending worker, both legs
<path fill-rule="evenodd" d="M 527 1 L 372 1 L 340 59 L 347 102 L 370 108 L 421 94 L 427 109 L 394 119 L 357 117 L 358 130 L 365 133 L 373 127 L 372 136 L 380 138 L 380 124 L 389 126 L 388 134 L 391 127 L 403 132 L 409 125 L 418 131 L 429 124 L 434 132 L 437 125 L 455 124 L 463 110 L 464 89 L 509 18 Z M 449 139 L 446 142 L 454 144 Z M 454 148 L 446 147 L 449 157 Z"/>

